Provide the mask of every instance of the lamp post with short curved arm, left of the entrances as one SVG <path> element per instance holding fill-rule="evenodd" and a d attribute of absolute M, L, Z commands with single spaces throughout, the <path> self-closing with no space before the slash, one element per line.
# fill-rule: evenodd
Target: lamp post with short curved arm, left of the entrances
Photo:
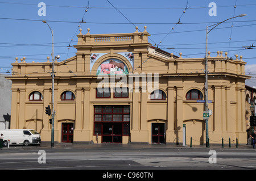
<path fill-rule="evenodd" d="M 55 58 L 59 59 L 60 56 L 57 55 L 56 57 L 54 57 L 54 49 L 53 49 L 53 30 L 52 28 L 49 26 L 49 24 L 43 20 L 42 21 L 43 23 L 46 23 L 49 27 L 49 29 L 51 30 L 51 33 L 52 33 L 52 53 L 51 53 L 51 56 L 52 56 L 52 72 L 51 72 L 51 76 L 52 76 L 52 135 L 51 135 L 51 148 L 54 147 L 54 116 L 55 116 L 55 110 L 54 110 L 54 61 L 55 61 Z"/>

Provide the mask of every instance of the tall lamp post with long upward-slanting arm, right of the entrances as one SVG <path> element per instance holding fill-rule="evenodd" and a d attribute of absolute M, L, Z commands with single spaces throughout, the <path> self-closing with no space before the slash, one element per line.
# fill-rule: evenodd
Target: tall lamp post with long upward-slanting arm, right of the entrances
<path fill-rule="evenodd" d="M 238 16 L 234 16 L 234 17 L 229 18 L 229 19 L 242 17 L 242 16 L 246 16 L 246 14 L 241 14 L 241 15 L 238 15 Z M 226 22 L 229 19 L 226 19 L 223 22 Z M 210 31 L 212 31 L 215 27 L 217 27 L 218 25 L 220 25 L 223 22 L 213 24 L 212 26 L 214 26 L 214 27 Z M 207 53 L 208 53 L 208 33 L 210 31 L 208 31 L 208 27 L 212 27 L 212 26 L 207 26 L 207 28 L 206 28 L 206 46 L 205 46 L 205 112 L 206 113 L 209 113 L 209 108 L 208 108 L 208 59 L 207 59 Z M 209 117 L 206 116 L 205 117 L 205 132 L 206 132 L 206 147 L 207 148 L 209 148 L 208 119 L 209 119 Z"/>

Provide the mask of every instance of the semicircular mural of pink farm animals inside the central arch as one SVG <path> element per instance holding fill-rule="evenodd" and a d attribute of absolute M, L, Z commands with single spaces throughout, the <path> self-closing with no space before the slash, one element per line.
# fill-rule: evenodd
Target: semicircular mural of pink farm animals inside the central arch
<path fill-rule="evenodd" d="M 97 74 L 129 74 L 127 66 L 116 58 L 104 61 L 97 69 Z"/>

